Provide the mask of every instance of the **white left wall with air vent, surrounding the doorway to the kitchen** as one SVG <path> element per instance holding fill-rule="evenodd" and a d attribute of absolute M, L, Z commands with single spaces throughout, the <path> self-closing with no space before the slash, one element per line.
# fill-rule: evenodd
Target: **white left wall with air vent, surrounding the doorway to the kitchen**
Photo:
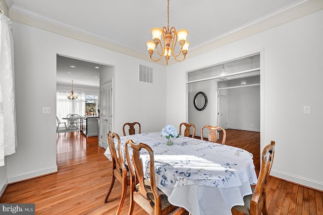
<path fill-rule="evenodd" d="M 12 30 L 18 148 L 7 157 L 9 183 L 57 171 L 57 54 L 115 66 L 115 132 L 122 133 L 123 123 L 133 119 L 141 123 L 142 132 L 165 126 L 165 66 L 15 21 Z M 139 63 L 153 67 L 154 84 L 137 82 Z M 50 107 L 51 113 L 43 114 L 42 107 Z"/>

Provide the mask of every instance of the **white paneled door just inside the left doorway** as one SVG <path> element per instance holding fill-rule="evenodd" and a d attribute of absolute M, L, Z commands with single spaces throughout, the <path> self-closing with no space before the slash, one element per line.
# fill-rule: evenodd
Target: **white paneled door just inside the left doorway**
<path fill-rule="evenodd" d="M 112 81 L 102 85 L 100 116 L 102 117 L 102 148 L 107 149 L 107 131 L 112 132 Z"/>

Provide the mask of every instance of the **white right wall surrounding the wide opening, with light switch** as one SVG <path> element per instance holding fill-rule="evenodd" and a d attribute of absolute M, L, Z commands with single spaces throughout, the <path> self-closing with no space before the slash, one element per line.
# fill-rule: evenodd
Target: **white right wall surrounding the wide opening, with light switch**
<path fill-rule="evenodd" d="M 169 66 L 167 102 L 177 105 L 167 106 L 167 122 L 186 119 L 187 71 L 262 50 L 260 138 L 261 149 L 276 141 L 271 174 L 323 190 L 321 20 L 323 10 Z M 312 113 L 303 114 L 304 106 L 311 106 Z"/>

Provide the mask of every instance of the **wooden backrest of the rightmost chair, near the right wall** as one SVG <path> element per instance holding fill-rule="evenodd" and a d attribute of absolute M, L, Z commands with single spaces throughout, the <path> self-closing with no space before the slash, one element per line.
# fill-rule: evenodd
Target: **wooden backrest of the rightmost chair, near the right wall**
<path fill-rule="evenodd" d="M 275 141 L 267 145 L 261 155 L 261 167 L 258 181 L 250 201 L 250 214 L 260 214 L 262 209 L 266 210 L 266 184 L 272 169 L 275 155 Z"/>

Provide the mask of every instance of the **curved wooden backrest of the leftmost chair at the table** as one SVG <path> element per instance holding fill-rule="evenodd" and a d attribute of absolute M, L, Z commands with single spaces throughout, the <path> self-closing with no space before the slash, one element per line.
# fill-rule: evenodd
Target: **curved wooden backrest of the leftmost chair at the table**
<path fill-rule="evenodd" d="M 116 140 L 116 142 L 115 142 Z M 122 173 L 122 175 L 127 175 L 127 167 L 124 163 L 122 157 L 122 149 L 121 149 L 121 141 L 120 136 L 117 133 L 111 133 L 111 131 L 107 132 L 107 144 L 109 146 L 109 150 L 111 153 L 112 166 L 113 169 L 118 169 L 117 172 Z M 116 148 L 117 144 L 117 148 Z"/>

